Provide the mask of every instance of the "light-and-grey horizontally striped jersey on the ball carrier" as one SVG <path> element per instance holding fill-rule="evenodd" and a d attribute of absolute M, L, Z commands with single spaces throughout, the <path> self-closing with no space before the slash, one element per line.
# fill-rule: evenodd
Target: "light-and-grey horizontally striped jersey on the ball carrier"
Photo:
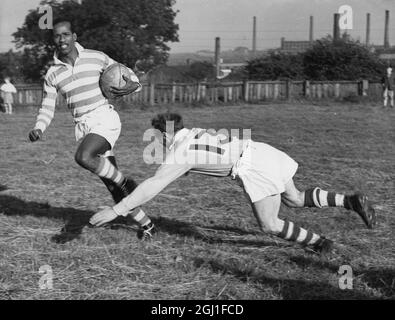
<path fill-rule="evenodd" d="M 66 100 L 67 107 L 74 118 L 79 118 L 102 105 L 108 104 L 99 86 L 102 72 L 116 63 L 105 53 L 83 48 L 75 43 L 78 57 L 74 66 L 60 61 L 55 53 L 54 65 L 49 68 L 44 79 L 43 100 L 38 112 L 34 129 L 44 132 L 51 123 L 60 92 Z M 131 79 L 139 82 L 131 71 Z M 141 86 L 135 92 L 140 91 Z"/>

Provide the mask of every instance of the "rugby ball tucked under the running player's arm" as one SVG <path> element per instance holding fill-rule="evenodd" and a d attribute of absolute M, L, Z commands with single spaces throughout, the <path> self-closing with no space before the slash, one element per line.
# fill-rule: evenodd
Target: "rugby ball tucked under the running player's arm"
<path fill-rule="evenodd" d="M 126 81 L 122 78 L 123 75 L 129 79 L 131 77 L 129 69 L 121 63 L 112 64 L 101 74 L 99 85 L 106 98 L 114 98 L 113 94 L 110 92 L 111 87 L 122 88 L 125 86 Z"/>

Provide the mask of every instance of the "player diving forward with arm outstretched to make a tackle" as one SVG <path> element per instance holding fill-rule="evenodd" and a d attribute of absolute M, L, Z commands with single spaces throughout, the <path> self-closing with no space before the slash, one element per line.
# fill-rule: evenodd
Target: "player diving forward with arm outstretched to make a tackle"
<path fill-rule="evenodd" d="M 167 121 L 174 122 L 175 134 L 166 132 Z M 236 137 L 229 141 L 225 135 L 204 129 L 189 130 L 183 127 L 178 114 L 160 114 L 152 120 L 152 125 L 163 135 L 163 144 L 169 149 L 165 162 L 153 177 L 141 183 L 120 203 L 96 213 L 91 224 L 100 226 L 119 215 L 127 215 L 187 172 L 232 176 L 239 180 L 262 231 L 309 246 L 316 252 L 330 252 L 333 242 L 293 222 L 279 219 L 281 201 L 293 208 L 344 207 L 357 212 L 368 228 L 375 224 L 375 211 L 362 194 L 343 195 L 318 187 L 299 191 L 293 181 L 298 164 L 268 144 Z M 145 233 L 142 237 L 150 238 L 152 230 L 141 229 L 140 232 Z"/>

